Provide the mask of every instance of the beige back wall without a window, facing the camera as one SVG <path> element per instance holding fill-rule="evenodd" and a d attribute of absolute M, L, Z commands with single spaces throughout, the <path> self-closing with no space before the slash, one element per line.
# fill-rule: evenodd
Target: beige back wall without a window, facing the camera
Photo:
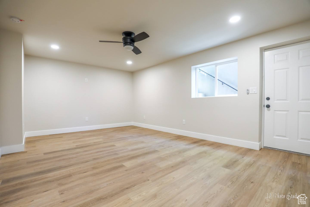
<path fill-rule="evenodd" d="M 26 55 L 24 83 L 26 132 L 132 121 L 131 72 Z"/>

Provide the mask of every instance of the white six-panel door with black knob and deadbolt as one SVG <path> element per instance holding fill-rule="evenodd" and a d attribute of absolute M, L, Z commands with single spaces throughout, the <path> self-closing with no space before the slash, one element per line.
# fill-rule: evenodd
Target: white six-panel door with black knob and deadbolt
<path fill-rule="evenodd" d="M 264 61 L 264 146 L 310 154 L 310 43 L 267 51 Z"/>

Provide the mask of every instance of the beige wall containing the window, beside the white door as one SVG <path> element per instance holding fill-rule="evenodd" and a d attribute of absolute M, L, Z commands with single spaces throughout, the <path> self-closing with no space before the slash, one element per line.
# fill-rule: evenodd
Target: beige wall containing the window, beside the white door
<path fill-rule="evenodd" d="M 310 39 L 310 21 L 134 72 L 133 121 L 260 142 L 261 47 L 298 38 Z M 191 66 L 231 57 L 238 57 L 238 96 L 191 98 Z M 247 95 L 249 87 L 258 93 Z"/>

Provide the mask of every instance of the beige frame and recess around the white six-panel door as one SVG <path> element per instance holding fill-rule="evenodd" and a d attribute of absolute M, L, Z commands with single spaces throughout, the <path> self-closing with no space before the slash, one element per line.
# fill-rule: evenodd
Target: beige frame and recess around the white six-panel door
<path fill-rule="evenodd" d="M 265 126 L 265 107 L 264 107 L 264 104 L 265 104 L 265 52 L 268 52 L 268 51 L 271 51 L 271 50 L 276 50 L 276 49 L 281 49 L 281 48 L 285 48 L 285 47 L 291 47 L 291 46 L 294 46 L 294 45 L 300 45 L 300 44 L 304 44 L 304 43 L 310 43 L 310 38 L 307 37 L 306 39 L 304 38 L 301 38 L 301 39 L 295 39 L 295 40 L 292 40 L 292 41 L 287 41 L 287 42 L 283 42 L 283 43 L 277 43 L 277 44 L 273 44 L 273 45 L 269 45 L 269 46 L 265 46 L 265 47 L 260 47 L 260 62 L 261 62 L 261 67 L 260 67 L 260 70 L 261 70 L 261 75 L 262 75 L 262 79 L 261 79 L 261 101 L 260 101 L 260 104 L 261 104 L 261 107 L 260 107 L 260 110 L 261 110 L 261 130 L 260 130 L 260 133 L 261 133 L 261 142 L 262 142 L 262 148 L 264 148 L 264 126 Z"/>

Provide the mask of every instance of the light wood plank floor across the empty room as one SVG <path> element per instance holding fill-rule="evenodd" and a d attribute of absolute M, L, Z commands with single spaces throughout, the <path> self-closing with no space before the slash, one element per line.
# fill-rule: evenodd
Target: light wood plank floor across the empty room
<path fill-rule="evenodd" d="M 129 126 L 28 137 L 0 182 L 6 207 L 310 206 L 310 157 Z"/>

